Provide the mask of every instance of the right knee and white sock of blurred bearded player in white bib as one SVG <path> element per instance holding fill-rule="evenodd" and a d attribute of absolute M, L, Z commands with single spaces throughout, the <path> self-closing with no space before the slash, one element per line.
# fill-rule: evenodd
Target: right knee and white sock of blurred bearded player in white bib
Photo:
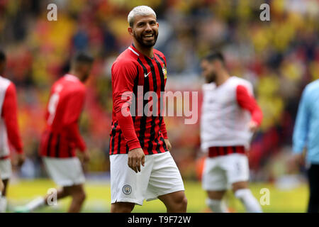
<path fill-rule="evenodd" d="M 248 187 L 248 182 L 233 183 L 233 192 L 249 213 L 262 213 L 262 207 Z"/>

